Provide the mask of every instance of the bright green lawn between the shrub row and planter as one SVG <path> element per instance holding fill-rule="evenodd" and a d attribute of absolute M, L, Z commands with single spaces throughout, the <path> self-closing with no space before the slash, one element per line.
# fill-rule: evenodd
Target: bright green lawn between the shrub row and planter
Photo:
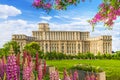
<path fill-rule="evenodd" d="M 62 73 L 63 69 L 69 70 L 75 64 L 91 64 L 100 66 L 106 72 L 107 80 L 120 80 L 120 60 L 48 60 L 48 65 L 53 65 Z"/>

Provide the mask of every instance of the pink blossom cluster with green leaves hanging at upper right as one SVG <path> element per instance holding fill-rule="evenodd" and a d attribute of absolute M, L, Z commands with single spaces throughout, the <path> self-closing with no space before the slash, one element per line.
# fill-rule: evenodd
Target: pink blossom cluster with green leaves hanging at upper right
<path fill-rule="evenodd" d="M 94 16 L 89 23 L 94 26 L 97 22 L 104 22 L 105 26 L 111 28 L 114 24 L 114 20 L 120 16 L 120 7 L 115 7 L 108 3 L 102 3 L 99 5 L 99 12 Z"/>

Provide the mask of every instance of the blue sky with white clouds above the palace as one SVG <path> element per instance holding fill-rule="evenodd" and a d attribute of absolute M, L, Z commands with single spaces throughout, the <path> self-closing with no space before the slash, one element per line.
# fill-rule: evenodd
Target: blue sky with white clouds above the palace
<path fill-rule="evenodd" d="M 113 30 L 107 30 L 99 23 L 92 32 L 87 20 L 98 11 L 102 0 L 86 0 L 67 11 L 52 10 L 49 14 L 32 6 L 33 0 L 0 0 L 0 47 L 11 40 L 12 34 L 26 34 L 37 30 L 38 23 L 50 24 L 51 30 L 90 31 L 90 36 L 112 35 L 113 50 L 120 50 L 120 18 L 115 21 Z"/>

